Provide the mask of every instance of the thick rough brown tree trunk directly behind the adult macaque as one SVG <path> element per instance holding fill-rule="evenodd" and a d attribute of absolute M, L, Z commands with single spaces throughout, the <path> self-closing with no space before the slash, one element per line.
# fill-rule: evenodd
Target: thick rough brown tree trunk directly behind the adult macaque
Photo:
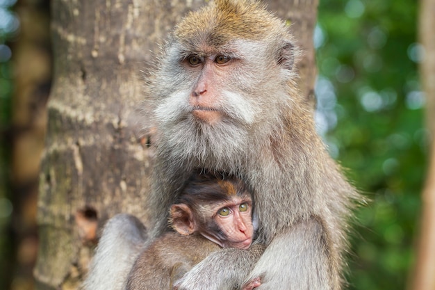
<path fill-rule="evenodd" d="M 77 211 L 107 218 L 128 212 L 147 225 L 152 152 L 138 133 L 141 71 L 167 31 L 200 0 L 52 2 L 54 86 L 40 175 L 36 289 L 77 289 L 92 256 Z M 318 0 L 269 1 L 306 51 L 302 92 L 312 100 L 313 28 Z M 152 138 L 151 138 L 152 140 Z"/>

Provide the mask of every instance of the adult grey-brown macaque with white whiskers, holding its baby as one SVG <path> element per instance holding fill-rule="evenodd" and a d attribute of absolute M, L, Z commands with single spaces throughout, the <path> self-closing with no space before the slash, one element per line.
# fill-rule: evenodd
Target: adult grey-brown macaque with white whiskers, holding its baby
<path fill-rule="evenodd" d="M 154 224 L 139 248 L 167 230 L 167 208 L 195 168 L 247 184 L 258 242 L 267 245 L 258 260 L 251 250 L 212 252 L 177 282 L 179 290 L 233 289 L 258 277 L 259 290 L 341 288 L 347 220 L 359 195 L 315 132 L 312 108 L 297 88 L 298 56 L 288 26 L 255 0 L 215 0 L 189 13 L 163 47 L 145 104 L 158 134 L 144 202 Z M 127 222 L 118 220 L 121 229 L 102 237 L 111 240 L 92 266 L 110 263 L 118 274 L 92 270 L 89 289 L 126 280 L 133 262 L 101 255 L 106 248 L 140 252 L 140 227 Z"/>

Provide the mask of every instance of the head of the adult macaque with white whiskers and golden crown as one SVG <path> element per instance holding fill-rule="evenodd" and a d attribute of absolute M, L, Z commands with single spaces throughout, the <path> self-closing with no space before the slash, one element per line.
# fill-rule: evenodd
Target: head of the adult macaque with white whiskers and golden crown
<path fill-rule="evenodd" d="M 293 46 L 277 19 L 260 27 L 243 11 L 237 19 L 208 13 L 213 22 L 201 22 L 204 11 L 193 13 L 172 33 L 151 95 L 165 154 L 227 170 L 284 127 L 293 106 Z M 234 31 L 222 30 L 227 26 Z"/>

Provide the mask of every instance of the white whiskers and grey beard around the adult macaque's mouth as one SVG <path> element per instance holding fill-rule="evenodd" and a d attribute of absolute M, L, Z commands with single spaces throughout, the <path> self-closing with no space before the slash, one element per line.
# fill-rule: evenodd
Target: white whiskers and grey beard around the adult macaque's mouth
<path fill-rule="evenodd" d="M 189 90 L 165 97 L 154 109 L 165 154 L 174 163 L 188 160 L 193 166 L 213 164 L 236 171 L 249 147 L 249 127 L 256 110 L 236 92 L 222 91 L 213 107 L 189 104 Z M 192 114 L 195 110 L 220 112 L 219 121 L 210 124 Z"/>

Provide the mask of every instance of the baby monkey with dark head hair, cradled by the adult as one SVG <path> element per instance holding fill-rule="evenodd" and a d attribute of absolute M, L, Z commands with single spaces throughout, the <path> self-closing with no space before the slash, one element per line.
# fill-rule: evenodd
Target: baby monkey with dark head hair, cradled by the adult
<path fill-rule="evenodd" d="M 220 248 L 247 249 L 252 243 L 252 198 L 230 176 L 195 172 L 170 208 L 167 232 L 136 260 L 127 290 L 177 289 L 174 283 Z M 254 280 L 243 289 L 258 287 Z"/>

